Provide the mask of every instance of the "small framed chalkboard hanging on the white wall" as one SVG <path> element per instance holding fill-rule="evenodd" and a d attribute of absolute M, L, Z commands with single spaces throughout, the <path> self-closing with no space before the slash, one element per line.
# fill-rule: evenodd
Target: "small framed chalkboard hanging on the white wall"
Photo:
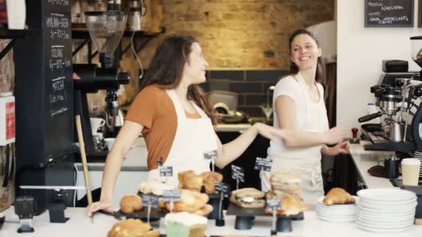
<path fill-rule="evenodd" d="M 365 0 L 365 27 L 413 27 L 414 0 Z"/>

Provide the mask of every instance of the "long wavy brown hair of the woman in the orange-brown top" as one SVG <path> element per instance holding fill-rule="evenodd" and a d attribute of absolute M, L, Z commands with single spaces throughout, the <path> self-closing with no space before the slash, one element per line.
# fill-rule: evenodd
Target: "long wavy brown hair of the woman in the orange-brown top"
<path fill-rule="evenodd" d="M 185 63 L 189 63 L 192 44 L 198 41 L 187 35 L 169 35 L 155 50 L 149 69 L 145 73 L 140 89 L 156 85 L 162 89 L 174 89 L 180 85 Z M 194 100 L 212 124 L 217 124 L 217 115 L 208 97 L 199 85 L 189 85 L 187 99 Z"/>

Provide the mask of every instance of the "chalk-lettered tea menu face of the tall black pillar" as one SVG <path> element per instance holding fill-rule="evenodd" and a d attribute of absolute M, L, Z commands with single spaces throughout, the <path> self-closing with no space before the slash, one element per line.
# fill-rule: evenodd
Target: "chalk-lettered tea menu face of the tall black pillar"
<path fill-rule="evenodd" d="M 68 149 L 69 143 L 63 139 L 73 141 L 73 137 L 63 136 L 72 134 L 73 128 L 73 84 L 71 81 L 71 20 L 70 0 L 47 0 L 42 16 L 44 31 L 44 118 L 45 132 L 49 136 L 47 152 L 57 153 Z M 54 124 L 52 126 L 51 124 Z M 62 141 L 61 145 L 58 142 Z M 67 143 L 67 145 L 66 145 Z M 58 146 L 67 146 L 58 147 Z"/>

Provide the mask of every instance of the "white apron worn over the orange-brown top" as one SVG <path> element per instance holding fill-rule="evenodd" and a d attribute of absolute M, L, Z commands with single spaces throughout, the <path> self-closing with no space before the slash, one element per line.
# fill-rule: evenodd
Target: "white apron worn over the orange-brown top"
<path fill-rule="evenodd" d="M 196 111 L 201 115 L 201 119 L 187 119 L 185 109 L 178 100 L 174 89 L 166 91 L 176 110 L 177 128 L 169 155 L 162 166 L 173 167 L 173 176 L 167 177 L 166 182 L 171 186 L 177 186 L 177 174 L 181 171 L 194 170 L 196 173 L 210 171 L 210 160 L 205 160 L 203 154 L 217 150 L 217 138 L 211 119 L 200 107 L 191 101 Z M 158 168 L 149 170 L 148 175 L 149 180 L 162 180 Z"/>

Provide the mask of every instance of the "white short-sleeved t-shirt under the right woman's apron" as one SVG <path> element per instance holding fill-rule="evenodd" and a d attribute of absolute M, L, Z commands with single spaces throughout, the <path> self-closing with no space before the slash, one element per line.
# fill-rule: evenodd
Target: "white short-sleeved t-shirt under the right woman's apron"
<path fill-rule="evenodd" d="M 320 83 L 316 83 L 320 91 L 320 100 L 323 100 L 323 87 Z M 278 124 L 278 113 L 276 110 L 276 99 L 279 96 L 289 96 L 294 100 L 294 107 L 296 113 L 295 128 L 296 130 L 303 130 L 305 128 L 305 119 L 306 119 L 306 101 L 305 101 L 305 91 L 303 91 L 298 80 L 294 76 L 287 76 L 278 81 L 276 88 L 274 89 L 273 94 L 273 126 L 274 128 L 280 128 Z M 270 141 L 270 146 L 268 148 L 268 155 L 280 155 L 281 152 L 287 150 L 282 139 L 272 139 Z"/>

